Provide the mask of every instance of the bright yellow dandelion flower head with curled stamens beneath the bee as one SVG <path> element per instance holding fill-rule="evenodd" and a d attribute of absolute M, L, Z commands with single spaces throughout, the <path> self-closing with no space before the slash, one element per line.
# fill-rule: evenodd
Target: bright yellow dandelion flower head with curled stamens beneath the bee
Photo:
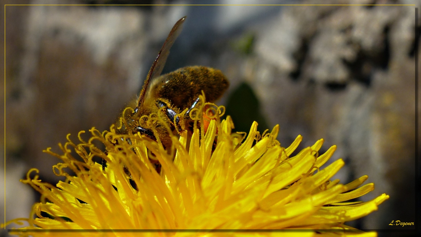
<path fill-rule="evenodd" d="M 221 108 L 215 108 L 213 111 L 221 112 Z M 63 161 L 53 170 L 57 176 L 65 176 L 66 181 L 53 186 L 43 183 L 37 175 L 30 178 L 38 170 L 29 170 L 27 178 L 21 181 L 42 194 L 41 202 L 33 206 L 30 218 L 11 221 L 29 223 L 14 234 L 139 236 L 139 232 L 117 230 L 309 229 L 306 232 L 140 234 L 321 236 L 336 235 L 327 231 L 336 229 L 346 235 L 376 236 L 376 233 L 341 232 L 353 229 L 344 222 L 377 210 L 389 196 L 382 194 L 369 202 L 347 202 L 370 192 L 374 186 L 366 184 L 357 188 L 367 176 L 346 185 L 339 184 L 339 180 L 330 181 L 344 165 L 341 159 L 319 170 L 336 146 L 318 155 L 323 144 L 321 139 L 290 157 L 301 136 L 283 148 L 276 140 L 278 125 L 272 132 L 261 135 L 254 122 L 245 138 L 243 134 L 231 132 L 234 125 L 229 116 L 220 121 L 219 113 L 215 114 L 208 121 L 207 129 L 203 129 L 206 116 L 199 116 L 202 128 L 197 128 L 196 120 L 191 136 L 187 132 L 171 135 L 172 147 L 168 149 L 140 133 L 116 134 L 113 127 L 104 133 L 94 128 L 89 130 L 88 141 L 81 138 L 84 133 L 81 131 L 79 144 L 67 136 L 67 143 L 59 144 L 63 154 L 45 150 Z M 106 151 L 96 147 L 94 141 L 103 143 Z M 101 157 L 106 165 L 94 162 L 93 157 Z M 160 169 L 151 162 L 154 160 L 159 162 Z M 36 232 L 45 229 L 116 231 Z"/>

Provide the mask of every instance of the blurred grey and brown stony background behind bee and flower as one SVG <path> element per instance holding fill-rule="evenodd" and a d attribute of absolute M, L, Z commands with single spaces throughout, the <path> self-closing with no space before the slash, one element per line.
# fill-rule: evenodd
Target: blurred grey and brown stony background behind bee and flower
<path fill-rule="evenodd" d="M 6 220 L 28 217 L 39 201 L 29 185 L 19 183 L 29 168 L 38 168 L 43 181 L 59 180 L 51 168 L 59 160 L 42 150 L 59 151 L 57 144 L 66 141 L 67 133 L 77 140 L 80 130 L 108 130 L 138 95 L 168 32 L 187 16 L 164 73 L 189 65 L 220 69 L 231 85 L 217 104 L 226 106 L 237 131 L 248 132 L 253 120 L 261 132 L 279 124 L 282 146 L 298 134 L 304 136 L 298 149 L 324 138 L 321 152 L 338 146 L 330 162 L 346 162 L 335 178 L 346 183 L 368 175 L 366 183 L 376 184 L 359 200 L 390 195 L 377 212 L 347 224 L 359 229 L 414 228 L 389 223 L 416 222 L 414 29 L 420 1 L 258 4 L 416 6 L 5 6 L 6 140 L 0 155 L 6 155 Z"/>

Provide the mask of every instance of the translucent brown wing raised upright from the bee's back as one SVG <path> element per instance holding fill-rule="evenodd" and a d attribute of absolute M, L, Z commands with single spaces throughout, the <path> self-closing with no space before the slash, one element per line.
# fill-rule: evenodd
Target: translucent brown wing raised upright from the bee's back
<path fill-rule="evenodd" d="M 177 23 L 173 26 L 173 29 L 171 29 L 171 32 L 168 34 L 168 37 L 165 40 L 164 45 L 162 46 L 161 50 L 159 51 L 157 58 L 152 64 L 151 69 L 149 69 L 149 73 L 143 84 L 142 90 L 140 91 L 137 109 L 141 108 L 143 104 L 149 82 L 153 80 L 154 78 L 159 77 L 161 75 L 161 72 L 165 66 L 165 62 L 167 61 L 167 58 L 168 58 L 168 54 L 170 53 L 170 48 L 171 46 L 173 46 L 174 41 L 176 41 L 177 37 L 180 35 L 185 19 L 186 19 L 186 16 L 179 19 L 179 21 L 177 21 Z"/>

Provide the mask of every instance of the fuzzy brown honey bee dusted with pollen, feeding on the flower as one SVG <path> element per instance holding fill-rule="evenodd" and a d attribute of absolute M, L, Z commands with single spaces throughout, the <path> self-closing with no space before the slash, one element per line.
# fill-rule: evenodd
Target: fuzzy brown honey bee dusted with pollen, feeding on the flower
<path fill-rule="evenodd" d="M 180 134 L 191 129 L 192 118 L 189 113 L 202 102 L 219 99 L 229 86 L 224 74 L 218 70 L 203 66 L 183 67 L 174 72 L 160 75 L 170 48 L 181 32 L 186 16 L 181 18 L 171 29 L 164 45 L 152 64 L 139 99 L 132 102 L 133 112 L 125 115 L 116 132 L 118 134 L 136 134 L 161 141 L 164 147 L 171 146 L 170 132 Z M 206 101 L 199 96 L 205 94 Z M 152 127 L 142 123 L 142 117 L 161 112 L 163 122 L 155 122 Z M 181 117 L 182 116 L 182 117 Z M 165 124 L 164 124 L 165 123 Z M 171 131 L 168 131 L 170 128 Z"/>

